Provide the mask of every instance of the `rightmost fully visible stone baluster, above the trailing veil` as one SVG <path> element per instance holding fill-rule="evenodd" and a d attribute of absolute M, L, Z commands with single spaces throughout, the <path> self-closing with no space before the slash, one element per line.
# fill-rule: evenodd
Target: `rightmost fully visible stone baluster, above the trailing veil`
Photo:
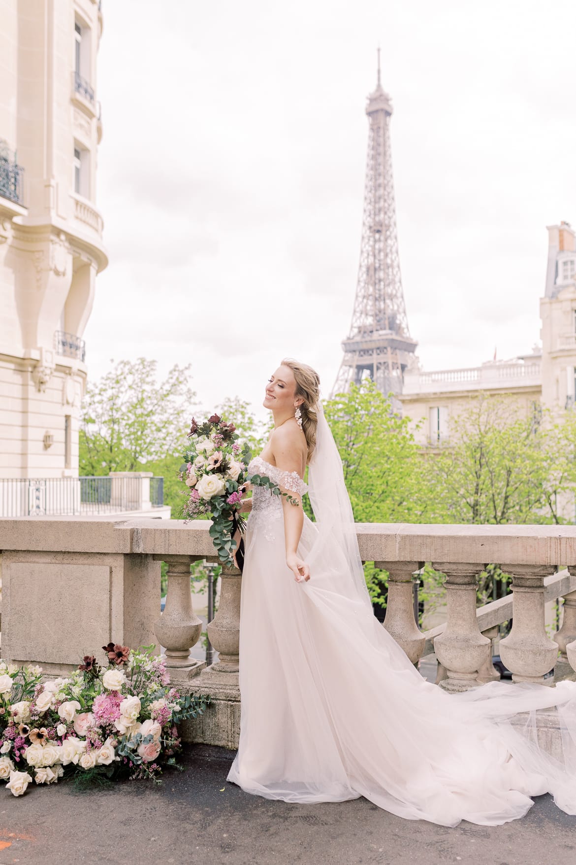
<path fill-rule="evenodd" d="M 554 667 L 558 644 L 547 637 L 544 626 L 544 577 L 546 565 L 501 565 L 512 574 L 512 630 L 500 640 L 500 657 L 512 673 L 513 682 L 552 684 L 544 674 Z"/>

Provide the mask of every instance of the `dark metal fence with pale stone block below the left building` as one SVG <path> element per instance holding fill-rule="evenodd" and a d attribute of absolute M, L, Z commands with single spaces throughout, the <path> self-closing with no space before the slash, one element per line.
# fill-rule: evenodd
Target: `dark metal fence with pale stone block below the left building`
<path fill-rule="evenodd" d="M 85 516 L 161 508 L 163 477 L 1 477 L 0 516 Z"/>

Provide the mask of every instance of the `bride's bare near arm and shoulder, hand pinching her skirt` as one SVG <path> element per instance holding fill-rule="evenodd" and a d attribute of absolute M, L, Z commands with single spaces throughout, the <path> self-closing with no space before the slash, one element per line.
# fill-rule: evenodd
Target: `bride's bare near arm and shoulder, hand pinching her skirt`
<path fill-rule="evenodd" d="M 282 434 L 281 434 L 282 433 Z M 280 471 L 295 472 L 300 477 L 302 468 L 302 446 L 300 435 L 293 430 L 278 430 L 272 442 L 272 452 L 275 464 Z M 302 528 L 304 526 L 304 511 L 302 509 L 302 497 L 294 490 L 286 489 L 280 484 L 282 492 L 295 499 L 298 504 L 292 504 L 285 496 L 282 496 L 282 508 L 284 509 L 284 541 L 286 548 L 286 564 L 294 573 L 297 582 L 310 579 L 310 568 L 298 555 L 298 544 L 300 543 Z"/>

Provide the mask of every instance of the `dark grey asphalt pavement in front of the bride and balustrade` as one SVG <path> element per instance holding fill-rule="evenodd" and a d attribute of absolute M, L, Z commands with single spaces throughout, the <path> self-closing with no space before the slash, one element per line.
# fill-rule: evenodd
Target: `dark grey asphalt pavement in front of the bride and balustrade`
<path fill-rule="evenodd" d="M 287 804 L 226 782 L 234 753 L 190 746 L 185 772 L 76 791 L 0 790 L 0 865 L 549 865 L 576 862 L 576 817 L 548 796 L 522 820 L 455 829 L 402 820 L 364 798 Z"/>

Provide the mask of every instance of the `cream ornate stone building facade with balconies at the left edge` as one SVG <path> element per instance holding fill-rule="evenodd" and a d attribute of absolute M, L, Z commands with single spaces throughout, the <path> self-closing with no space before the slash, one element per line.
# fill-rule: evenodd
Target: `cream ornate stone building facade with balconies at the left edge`
<path fill-rule="evenodd" d="M 0 477 L 78 475 L 82 334 L 107 265 L 95 203 L 98 7 L 3 2 Z"/>

